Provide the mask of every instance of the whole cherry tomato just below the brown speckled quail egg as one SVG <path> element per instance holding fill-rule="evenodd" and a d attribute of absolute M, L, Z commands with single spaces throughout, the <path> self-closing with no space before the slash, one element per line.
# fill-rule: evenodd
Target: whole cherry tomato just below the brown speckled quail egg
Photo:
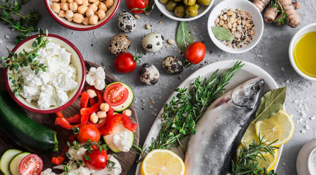
<path fill-rule="evenodd" d="M 129 73 L 136 68 L 136 61 L 138 57 L 128 52 L 120 53 L 114 59 L 114 66 L 118 72 Z"/>

